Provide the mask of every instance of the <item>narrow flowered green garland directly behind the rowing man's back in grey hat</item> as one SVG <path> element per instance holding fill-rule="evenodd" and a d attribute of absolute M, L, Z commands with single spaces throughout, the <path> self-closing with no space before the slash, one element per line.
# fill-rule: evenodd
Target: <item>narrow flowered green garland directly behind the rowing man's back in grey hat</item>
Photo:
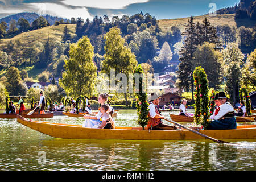
<path fill-rule="evenodd" d="M 141 65 L 138 65 L 135 69 L 134 69 L 134 73 L 138 73 L 143 74 L 143 77 L 145 76 L 143 73 L 143 69 L 141 67 Z M 139 78 L 139 93 L 135 92 L 135 97 L 136 97 L 136 109 L 137 109 L 137 115 L 138 115 L 138 120 L 137 120 L 137 124 L 140 125 L 141 127 L 144 127 L 147 125 L 148 122 L 148 102 L 147 102 L 147 93 L 142 93 L 142 88 L 144 86 L 144 82 L 142 82 L 142 78 Z M 134 85 L 135 85 L 135 78 L 134 78 Z"/>

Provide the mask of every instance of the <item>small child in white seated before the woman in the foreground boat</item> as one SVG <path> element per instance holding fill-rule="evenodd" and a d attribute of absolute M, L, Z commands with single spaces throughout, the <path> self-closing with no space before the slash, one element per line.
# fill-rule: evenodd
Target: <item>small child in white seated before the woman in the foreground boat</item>
<path fill-rule="evenodd" d="M 100 107 L 100 112 L 96 116 L 84 115 L 85 121 L 82 127 L 93 129 L 113 129 L 114 122 L 108 113 L 109 105 L 104 104 Z"/>

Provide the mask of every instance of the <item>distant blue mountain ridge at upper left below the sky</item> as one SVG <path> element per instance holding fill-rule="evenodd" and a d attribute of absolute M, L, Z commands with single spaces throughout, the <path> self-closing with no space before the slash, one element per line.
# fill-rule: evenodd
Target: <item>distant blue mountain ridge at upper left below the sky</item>
<path fill-rule="evenodd" d="M 34 22 L 35 19 L 39 18 L 39 14 L 37 13 L 28 13 L 28 12 L 23 12 L 23 13 L 18 13 L 18 14 L 14 14 L 14 15 L 10 15 L 10 16 L 6 16 L 5 18 L 0 19 L 0 22 L 4 21 L 7 24 L 9 24 L 9 22 L 11 20 L 15 20 L 16 22 L 18 22 L 18 20 L 20 18 L 24 18 L 26 20 L 28 20 L 28 22 L 30 22 L 30 24 L 32 22 Z M 64 22 L 67 22 L 67 19 L 64 18 L 59 18 L 59 17 L 55 17 L 55 16 L 50 16 L 50 15 L 42 15 L 49 24 L 53 25 L 55 23 L 55 21 L 60 21 L 61 19 L 64 20 Z"/>

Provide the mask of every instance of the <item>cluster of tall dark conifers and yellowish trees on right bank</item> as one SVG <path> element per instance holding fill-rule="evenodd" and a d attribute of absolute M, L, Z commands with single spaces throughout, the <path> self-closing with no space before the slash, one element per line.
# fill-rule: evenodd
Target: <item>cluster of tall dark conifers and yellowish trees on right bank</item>
<path fill-rule="evenodd" d="M 238 102 L 238 90 L 241 86 L 246 86 L 250 91 L 255 90 L 255 51 L 251 52 L 245 60 L 245 56 L 238 47 L 238 44 L 232 43 L 234 40 L 222 36 L 217 36 L 222 31 L 228 31 L 232 34 L 232 29 L 225 30 L 226 26 L 215 28 L 209 23 L 207 18 L 202 24 L 194 23 L 194 18 L 188 20 L 183 35 L 185 36 L 184 46 L 180 51 L 180 61 L 177 86 L 180 89 L 192 91 L 192 101 L 194 92 L 193 70 L 197 66 L 205 69 L 209 80 L 209 87 L 220 89 L 220 86 L 226 82 L 225 90 L 228 92 L 233 103 Z M 219 29 L 219 33 L 217 30 Z M 220 31 L 220 29 L 222 29 Z M 229 29 L 229 28 L 228 28 Z M 232 36 L 230 36 L 232 37 Z M 222 47 L 220 38 L 227 43 L 226 48 Z M 230 41 L 230 43 L 229 43 Z M 247 80 L 249 79 L 249 80 Z"/>

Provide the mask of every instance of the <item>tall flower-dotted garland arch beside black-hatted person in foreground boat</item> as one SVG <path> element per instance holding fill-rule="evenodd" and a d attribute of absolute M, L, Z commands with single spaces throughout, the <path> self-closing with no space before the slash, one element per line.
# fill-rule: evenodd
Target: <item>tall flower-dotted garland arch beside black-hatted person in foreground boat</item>
<path fill-rule="evenodd" d="M 195 110 L 195 123 L 196 126 L 199 124 L 207 127 L 210 123 L 209 120 L 209 87 L 208 87 L 208 79 L 207 75 L 204 71 L 204 68 L 196 67 L 193 72 L 193 78 L 196 87 L 196 110 Z"/>

